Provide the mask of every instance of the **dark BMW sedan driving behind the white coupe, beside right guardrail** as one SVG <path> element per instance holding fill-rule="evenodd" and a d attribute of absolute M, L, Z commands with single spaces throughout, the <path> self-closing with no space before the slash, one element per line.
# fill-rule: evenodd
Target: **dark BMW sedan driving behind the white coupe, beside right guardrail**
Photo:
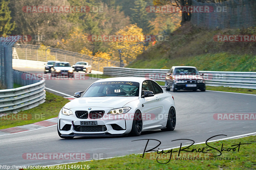
<path fill-rule="evenodd" d="M 165 77 L 165 85 L 170 84 L 173 92 L 177 90 L 197 89 L 205 91 L 203 74 L 200 74 L 196 67 L 191 66 L 172 66 Z M 166 88 L 167 91 L 170 88 Z"/>

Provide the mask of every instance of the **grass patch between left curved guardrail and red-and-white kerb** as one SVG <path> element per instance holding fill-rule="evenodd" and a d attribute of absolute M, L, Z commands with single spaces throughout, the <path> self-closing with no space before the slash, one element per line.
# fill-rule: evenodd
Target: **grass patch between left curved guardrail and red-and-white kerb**
<path fill-rule="evenodd" d="M 46 100 L 37 107 L 0 117 L 0 129 L 22 126 L 57 117 L 60 109 L 69 100 L 46 92 Z"/>

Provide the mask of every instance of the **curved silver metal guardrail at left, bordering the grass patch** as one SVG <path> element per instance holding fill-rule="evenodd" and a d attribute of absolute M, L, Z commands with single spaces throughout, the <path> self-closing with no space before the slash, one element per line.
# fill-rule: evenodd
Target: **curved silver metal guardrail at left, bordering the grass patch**
<path fill-rule="evenodd" d="M 26 80 L 28 72 L 13 70 L 14 83 L 25 85 L 14 89 L 0 90 L 0 115 L 2 113 L 17 113 L 44 103 L 44 78 L 36 76 L 34 80 Z"/>

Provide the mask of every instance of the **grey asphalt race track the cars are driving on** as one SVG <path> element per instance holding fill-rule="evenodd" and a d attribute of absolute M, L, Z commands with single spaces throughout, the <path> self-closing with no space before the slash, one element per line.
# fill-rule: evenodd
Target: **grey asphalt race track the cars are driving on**
<path fill-rule="evenodd" d="M 17 69 L 17 68 L 14 68 Z M 22 68 L 19 70 L 40 72 L 35 69 Z M 87 80 L 46 80 L 46 87 L 73 95 L 83 91 L 95 78 Z M 173 141 L 175 139 L 192 139 L 195 143 L 204 142 L 215 135 L 227 137 L 255 132 L 255 120 L 214 120 L 215 113 L 256 113 L 256 95 L 235 94 L 226 92 L 171 92 L 176 103 L 177 124 L 174 131 L 162 132 L 154 130 L 145 132 L 139 137 L 108 137 L 83 138 L 72 140 L 61 139 L 57 127 L 49 127 L 17 134 L 0 136 L 0 162 L 3 165 L 53 165 L 75 162 L 78 160 L 26 160 L 23 153 L 101 153 L 103 158 L 122 156 L 132 153 L 142 153 L 146 140 L 157 139 L 162 142 L 159 149 L 189 144 L 188 141 Z M 225 138 L 219 136 L 212 140 Z M 148 149 L 156 146 L 157 142 L 150 141 Z M 191 144 L 191 143 L 190 143 Z M 96 157 L 94 157 L 96 158 Z M 102 158 L 102 157 L 101 157 Z"/>

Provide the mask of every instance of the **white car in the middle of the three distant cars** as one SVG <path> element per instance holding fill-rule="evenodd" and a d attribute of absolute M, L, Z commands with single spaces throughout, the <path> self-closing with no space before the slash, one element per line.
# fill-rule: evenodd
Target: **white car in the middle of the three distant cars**
<path fill-rule="evenodd" d="M 74 69 L 68 62 L 55 62 L 51 71 L 52 77 L 56 76 L 68 76 L 74 77 Z"/>

